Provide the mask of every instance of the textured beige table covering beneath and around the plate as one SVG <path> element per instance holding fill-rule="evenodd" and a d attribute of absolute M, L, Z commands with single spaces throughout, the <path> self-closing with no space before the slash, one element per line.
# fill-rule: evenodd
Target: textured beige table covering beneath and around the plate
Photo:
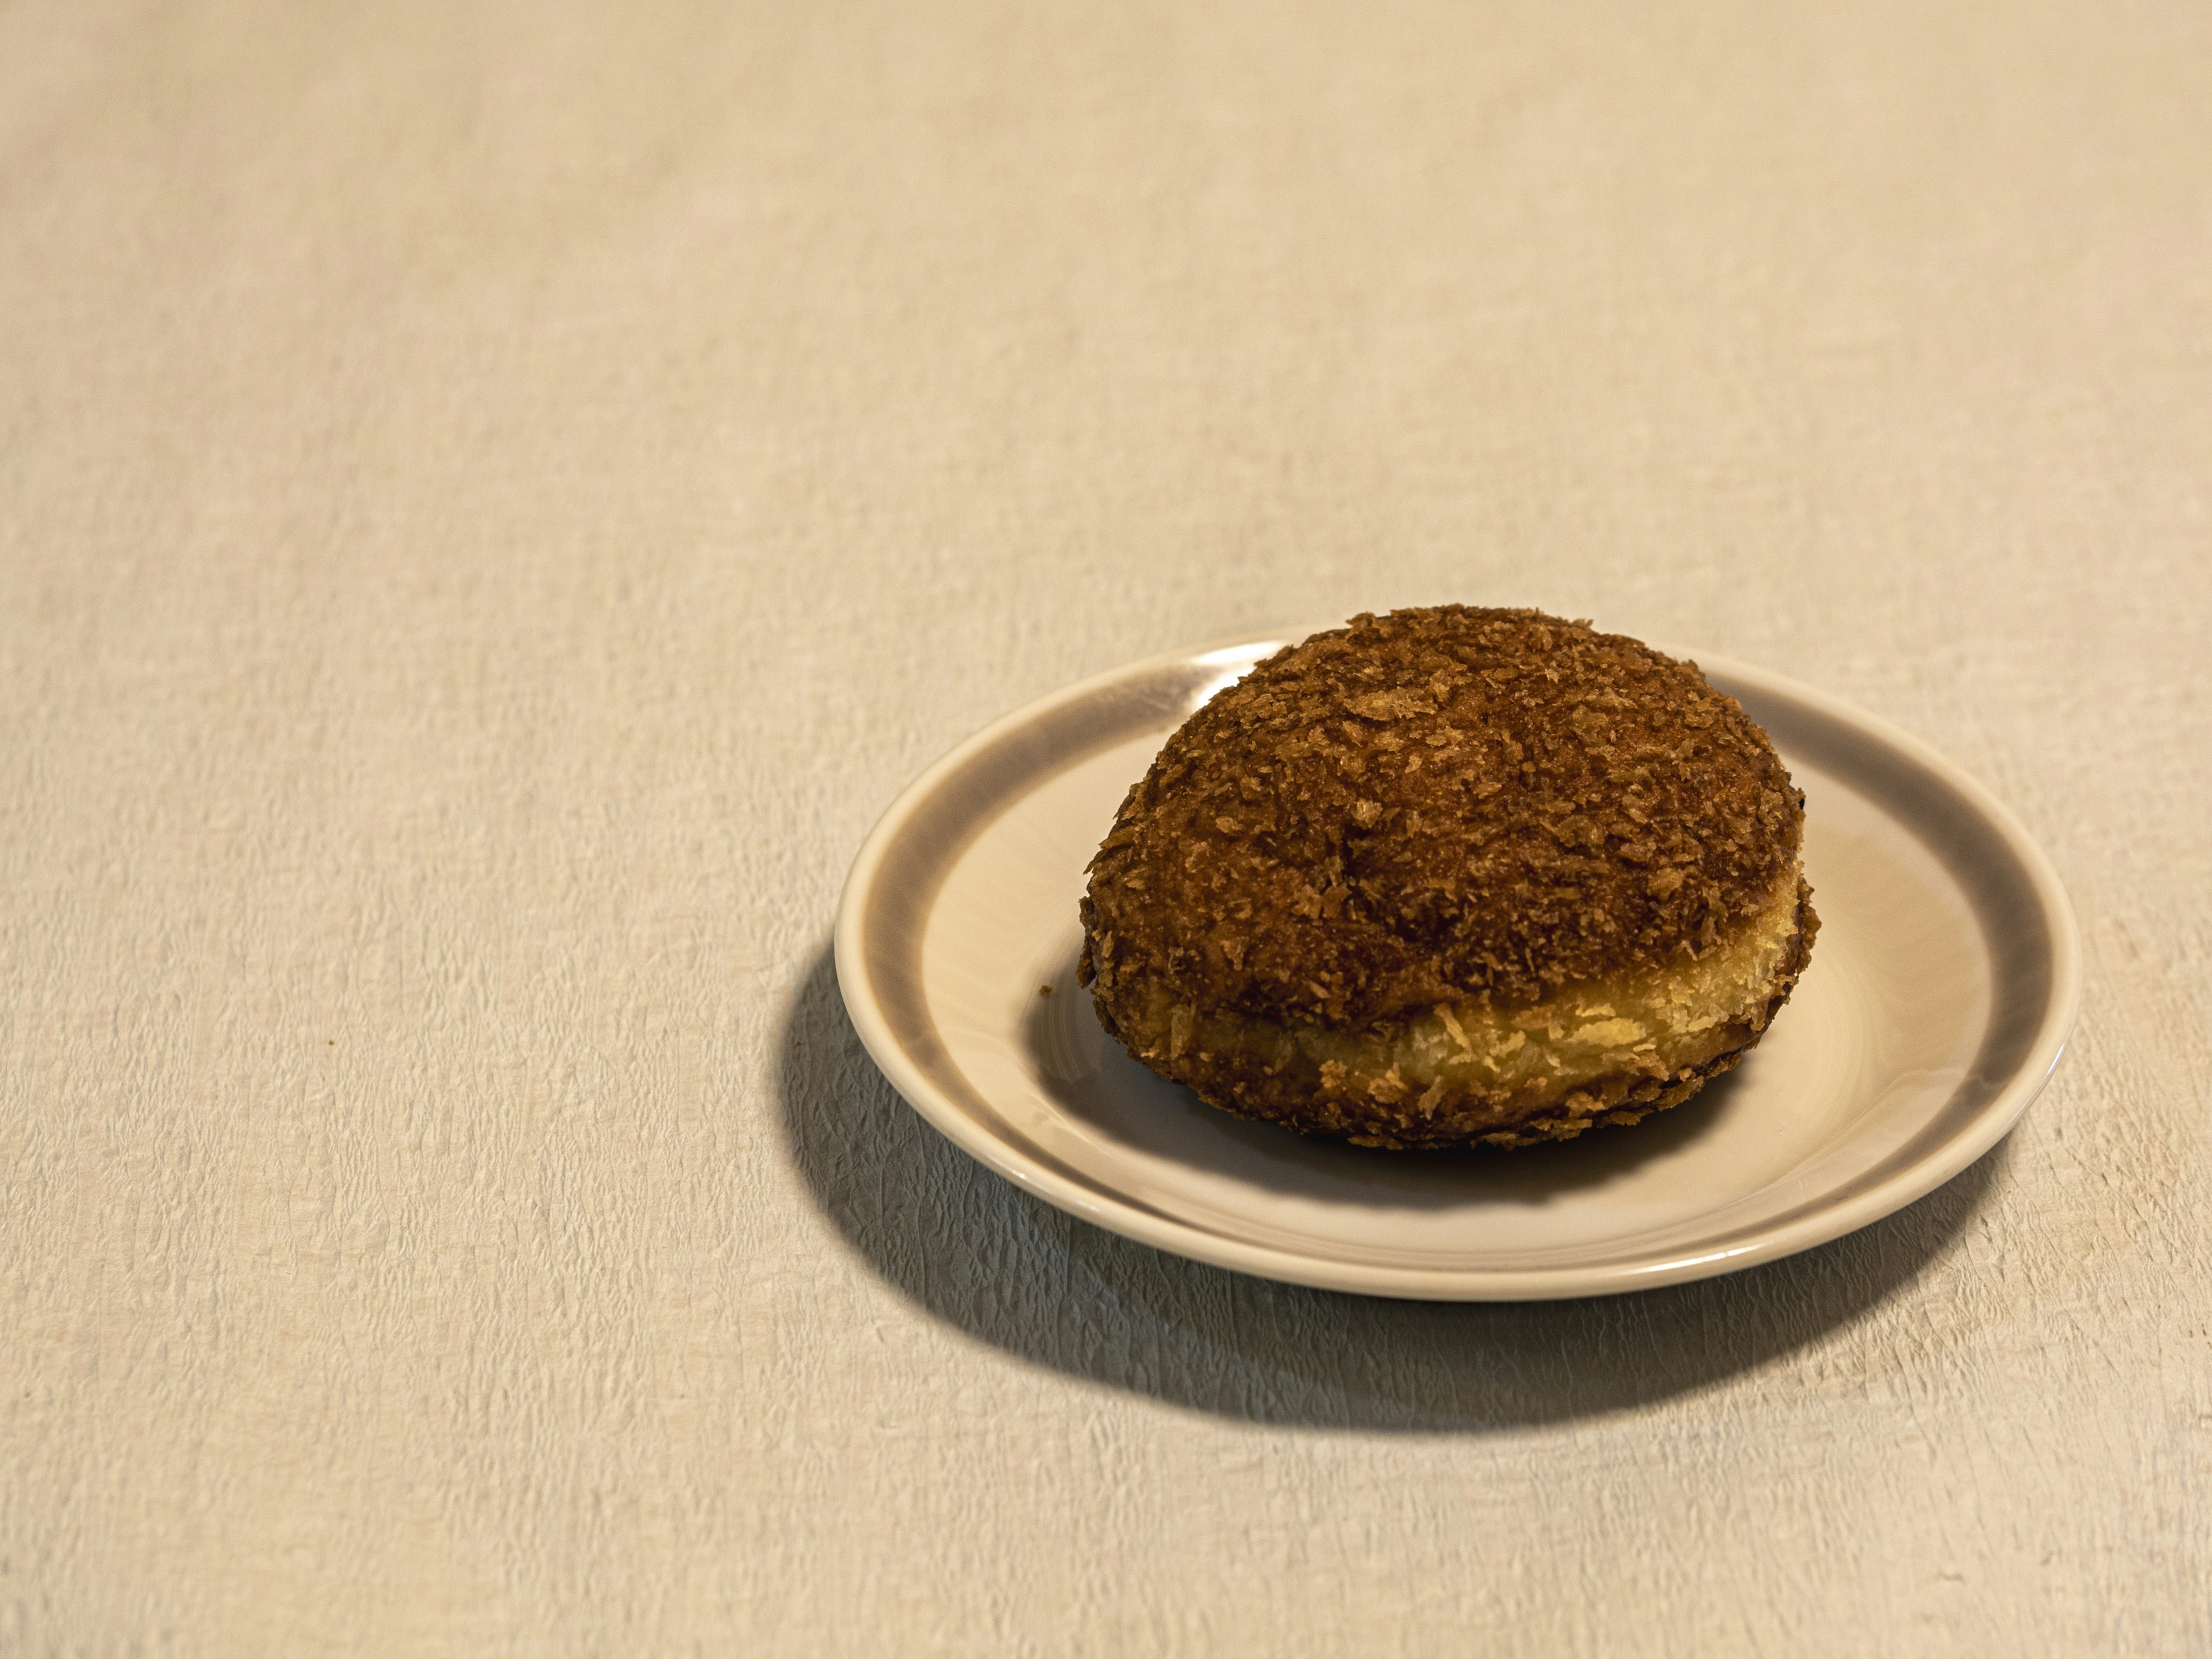
<path fill-rule="evenodd" d="M 0 1652 L 2212 1648 L 2212 11 L 1672 11 L 0 7 Z M 2013 1139 L 1409 1307 L 889 1097 L 907 776 L 1447 597 L 1984 776 Z"/>

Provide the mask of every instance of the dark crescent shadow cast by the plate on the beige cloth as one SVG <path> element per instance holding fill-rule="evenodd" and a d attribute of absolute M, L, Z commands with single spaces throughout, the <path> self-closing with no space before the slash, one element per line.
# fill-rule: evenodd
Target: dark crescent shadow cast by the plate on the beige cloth
<path fill-rule="evenodd" d="M 1568 1303 L 1405 1303 L 1183 1261 L 1020 1192 L 883 1079 L 827 951 L 790 1009 L 779 1064 L 792 1159 L 905 1296 L 1035 1365 L 1274 1425 L 1480 1431 L 1712 1387 L 1907 1285 L 2008 1157 L 2000 1144 L 1871 1228 L 1725 1279 Z"/>

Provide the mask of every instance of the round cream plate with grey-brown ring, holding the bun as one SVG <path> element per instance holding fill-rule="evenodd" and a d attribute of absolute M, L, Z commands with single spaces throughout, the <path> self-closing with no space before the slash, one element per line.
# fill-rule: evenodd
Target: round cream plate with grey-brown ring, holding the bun
<path fill-rule="evenodd" d="M 1290 635 L 1298 637 L 1298 635 Z M 916 1110 L 1062 1210 L 1329 1290 L 1595 1296 L 1750 1267 L 1964 1170 L 2057 1064 L 2073 911 L 2004 807 L 1927 745 L 1699 657 L 1805 790 L 1820 940 L 1741 1068 L 1635 1128 L 1513 1152 L 1378 1152 L 1155 1077 L 1075 984 L 1084 865 L 1199 703 L 1287 637 L 1179 650 L 1009 714 L 925 772 L 854 863 L 836 973 Z"/>

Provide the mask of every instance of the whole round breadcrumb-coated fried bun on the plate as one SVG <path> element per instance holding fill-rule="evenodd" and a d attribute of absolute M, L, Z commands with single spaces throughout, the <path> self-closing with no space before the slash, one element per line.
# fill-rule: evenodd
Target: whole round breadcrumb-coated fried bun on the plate
<path fill-rule="evenodd" d="M 1677 1106 L 1790 998 L 1803 794 L 1694 664 L 1542 611 L 1360 615 L 1168 739 L 1091 860 L 1106 1031 L 1360 1146 Z"/>

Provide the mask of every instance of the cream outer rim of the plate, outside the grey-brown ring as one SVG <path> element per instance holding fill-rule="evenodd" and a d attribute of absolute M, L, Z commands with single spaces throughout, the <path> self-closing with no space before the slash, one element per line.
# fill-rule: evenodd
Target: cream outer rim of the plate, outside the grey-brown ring
<path fill-rule="evenodd" d="M 1323 628 L 1340 624 L 1323 624 Z M 1931 1148 L 1922 1159 L 1893 1172 L 1885 1181 L 1863 1188 L 1834 1206 L 1823 1206 L 1812 1214 L 1801 1214 L 1734 1248 L 1703 1254 L 1670 1256 L 1655 1263 L 1610 1263 L 1601 1267 L 1409 1267 L 1371 1265 L 1340 1261 L 1327 1254 L 1285 1250 L 1279 1245 L 1252 1243 L 1197 1228 L 1175 1217 L 1161 1214 L 1135 1201 L 1099 1194 L 1093 1188 L 1071 1181 L 1066 1175 L 1029 1157 L 1022 1148 L 1009 1146 L 993 1135 L 958 1102 L 947 1097 L 936 1082 L 907 1053 L 889 1018 L 883 1011 L 880 991 L 867 964 L 867 914 L 876 891 L 876 880 L 900 834 L 916 812 L 936 796 L 938 785 L 960 772 L 973 757 L 998 743 L 1009 732 L 1040 721 L 1071 703 L 1097 697 L 1104 690 L 1128 681 L 1141 681 L 1148 672 L 1166 668 L 1194 668 L 1214 661 L 1234 661 L 1254 646 L 1283 646 L 1318 633 L 1318 628 L 1270 628 L 1212 639 L 1177 650 L 1161 650 L 1139 657 L 1097 675 L 1086 675 L 1060 690 L 1031 699 L 1002 714 L 982 730 L 956 743 L 911 783 L 907 783 L 876 818 L 860 843 L 845 887 L 838 898 L 834 931 L 834 964 L 838 993 L 847 1018 L 867 1048 L 869 1060 L 883 1071 L 891 1088 L 940 1135 L 973 1157 L 984 1168 L 1033 1192 L 1057 1210 L 1091 1221 L 1108 1232 L 1166 1250 L 1168 1254 L 1203 1261 L 1230 1272 L 1254 1274 L 1281 1283 L 1310 1285 L 1365 1296 L 1391 1296 L 1405 1301 L 1564 1301 L 1579 1296 L 1617 1296 L 1637 1290 L 1657 1290 L 1717 1274 L 1756 1267 L 1778 1261 L 1801 1250 L 1840 1239 L 1858 1228 L 1880 1221 L 1927 1197 L 1944 1181 L 1951 1181 L 1997 1141 L 2011 1133 L 2028 1104 L 2044 1091 L 2057 1071 L 2073 1035 L 2081 1009 L 2081 936 L 2073 902 L 2059 880 L 2057 869 L 2044 849 L 2028 836 L 2026 827 L 1997 796 L 1971 772 L 1938 752 L 1933 745 L 1893 726 L 1880 714 L 1869 714 L 1856 703 L 1847 703 L 1818 686 L 1807 686 L 1790 675 L 1721 657 L 1701 650 L 1681 650 L 1670 644 L 1655 644 L 1672 657 L 1697 664 L 1701 670 L 1719 672 L 1741 684 L 1772 690 L 1785 699 L 1796 699 L 1823 717 L 1858 730 L 1893 750 L 1916 768 L 1931 772 L 1951 787 L 1975 816 L 1997 834 L 2004 849 L 2015 860 L 2028 891 L 2033 891 L 2044 920 L 2044 938 L 2051 953 L 2051 995 L 2035 1035 L 2022 1062 L 1991 1099 L 1951 1139 Z"/>

